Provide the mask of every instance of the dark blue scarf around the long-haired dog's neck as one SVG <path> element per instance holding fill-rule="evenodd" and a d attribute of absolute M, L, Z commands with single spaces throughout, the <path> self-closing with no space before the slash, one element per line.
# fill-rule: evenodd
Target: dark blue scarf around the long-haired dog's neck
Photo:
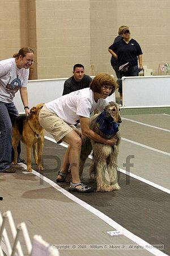
<path fill-rule="evenodd" d="M 105 112 L 105 109 L 97 117 L 96 125 L 107 136 L 113 136 L 119 130 L 119 124 L 114 122 L 114 119 Z"/>

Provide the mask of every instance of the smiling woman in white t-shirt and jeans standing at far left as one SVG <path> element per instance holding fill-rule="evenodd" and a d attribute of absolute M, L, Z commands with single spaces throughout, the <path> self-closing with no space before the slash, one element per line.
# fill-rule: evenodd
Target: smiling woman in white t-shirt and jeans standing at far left
<path fill-rule="evenodd" d="M 0 61 L 0 172 L 11 173 L 16 169 L 11 166 L 12 123 L 19 114 L 13 99 L 19 90 L 28 115 L 27 82 L 33 62 L 34 52 L 29 47 L 23 47 L 12 58 Z"/>

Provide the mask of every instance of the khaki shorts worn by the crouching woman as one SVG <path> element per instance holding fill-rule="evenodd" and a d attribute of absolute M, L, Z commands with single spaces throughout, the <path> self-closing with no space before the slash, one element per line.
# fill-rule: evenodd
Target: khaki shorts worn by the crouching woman
<path fill-rule="evenodd" d="M 40 125 L 53 135 L 56 142 L 61 142 L 62 138 L 76 129 L 74 125 L 67 125 L 63 119 L 54 114 L 44 106 L 39 113 Z"/>

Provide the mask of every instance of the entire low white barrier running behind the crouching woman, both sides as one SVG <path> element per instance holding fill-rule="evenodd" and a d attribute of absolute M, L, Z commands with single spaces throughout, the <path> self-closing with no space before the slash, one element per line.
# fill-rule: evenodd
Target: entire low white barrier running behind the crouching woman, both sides
<path fill-rule="evenodd" d="M 61 97 L 66 79 L 28 81 L 29 107 Z M 122 77 L 122 93 L 123 108 L 170 106 L 170 76 Z M 108 100 L 115 101 L 115 94 Z M 16 93 L 14 104 L 19 113 L 24 113 L 19 92 Z"/>

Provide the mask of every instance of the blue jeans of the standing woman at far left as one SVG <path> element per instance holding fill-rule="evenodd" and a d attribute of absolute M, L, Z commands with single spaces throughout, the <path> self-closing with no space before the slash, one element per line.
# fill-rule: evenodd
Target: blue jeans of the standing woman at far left
<path fill-rule="evenodd" d="M 11 166 L 14 158 L 12 148 L 12 125 L 15 117 L 18 117 L 18 110 L 13 102 L 5 103 L 0 101 L 0 172 Z M 18 145 L 18 159 L 20 155 L 20 144 Z"/>

